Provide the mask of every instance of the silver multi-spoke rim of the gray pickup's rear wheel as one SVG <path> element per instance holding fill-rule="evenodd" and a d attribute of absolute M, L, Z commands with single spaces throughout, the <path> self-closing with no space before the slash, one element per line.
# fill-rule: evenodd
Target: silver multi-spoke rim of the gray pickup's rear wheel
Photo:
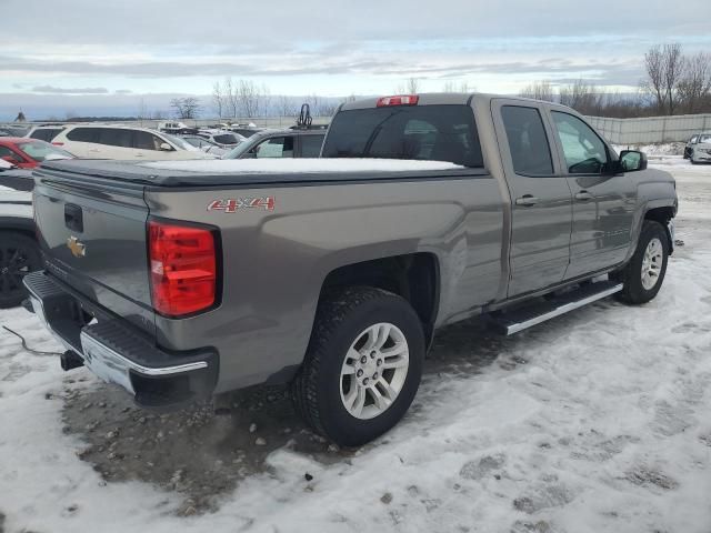
<path fill-rule="evenodd" d="M 346 354 L 341 368 L 341 401 L 361 420 L 382 414 L 398 398 L 410 365 L 408 341 L 387 322 L 362 331 Z"/>

